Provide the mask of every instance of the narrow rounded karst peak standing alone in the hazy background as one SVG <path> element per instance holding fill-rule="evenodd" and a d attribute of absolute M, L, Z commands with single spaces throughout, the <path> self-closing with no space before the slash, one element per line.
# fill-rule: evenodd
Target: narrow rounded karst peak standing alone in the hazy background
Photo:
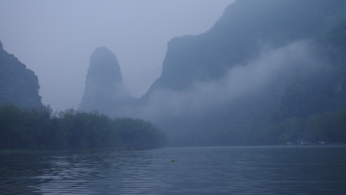
<path fill-rule="evenodd" d="M 121 81 L 120 66 L 115 54 L 105 47 L 97 48 L 90 57 L 79 109 L 98 110 L 114 115 L 117 108 L 130 98 Z"/>

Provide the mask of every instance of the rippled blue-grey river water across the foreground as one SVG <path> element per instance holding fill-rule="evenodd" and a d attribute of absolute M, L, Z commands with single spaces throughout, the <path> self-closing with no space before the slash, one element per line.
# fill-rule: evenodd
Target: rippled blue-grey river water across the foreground
<path fill-rule="evenodd" d="M 346 194 L 346 147 L 0 154 L 0 194 Z"/>

